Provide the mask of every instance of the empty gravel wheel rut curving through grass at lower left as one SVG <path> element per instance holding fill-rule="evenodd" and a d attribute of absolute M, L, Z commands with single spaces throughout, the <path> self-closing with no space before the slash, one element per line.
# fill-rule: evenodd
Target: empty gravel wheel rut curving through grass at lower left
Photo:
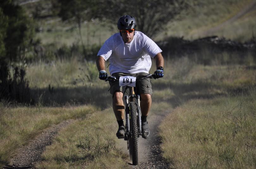
<path fill-rule="evenodd" d="M 41 160 L 41 154 L 45 150 L 46 146 L 52 144 L 52 138 L 57 135 L 59 130 L 68 126 L 73 121 L 74 120 L 63 121 L 58 125 L 54 125 L 51 128 L 46 129 L 28 145 L 20 147 L 17 155 L 10 160 L 10 165 L 3 168 L 33 168 L 34 163 Z"/>

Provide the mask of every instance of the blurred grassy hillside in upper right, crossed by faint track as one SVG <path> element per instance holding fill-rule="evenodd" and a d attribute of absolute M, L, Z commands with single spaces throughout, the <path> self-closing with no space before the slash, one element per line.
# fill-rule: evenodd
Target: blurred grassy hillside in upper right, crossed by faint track
<path fill-rule="evenodd" d="M 197 39 L 206 36 L 225 37 L 238 42 L 245 42 L 255 36 L 256 1 L 193 1 L 185 14 L 170 22 L 163 35 Z"/>

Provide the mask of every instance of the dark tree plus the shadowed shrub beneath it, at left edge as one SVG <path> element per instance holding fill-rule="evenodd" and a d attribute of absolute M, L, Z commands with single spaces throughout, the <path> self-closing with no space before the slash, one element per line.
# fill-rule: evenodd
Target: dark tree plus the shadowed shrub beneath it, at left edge
<path fill-rule="evenodd" d="M 0 1 L 0 99 L 29 102 L 25 71 L 15 63 L 25 59 L 32 48 L 33 21 L 11 0 Z M 11 75 L 11 65 L 13 74 Z"/>

